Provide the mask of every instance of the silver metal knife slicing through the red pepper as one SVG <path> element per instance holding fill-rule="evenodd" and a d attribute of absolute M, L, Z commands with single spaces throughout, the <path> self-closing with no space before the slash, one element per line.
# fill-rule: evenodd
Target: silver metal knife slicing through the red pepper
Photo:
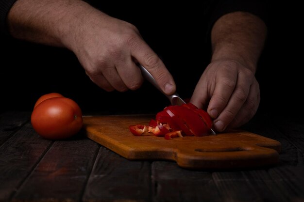
<path fill-rule="evenodd" d="M 138 66 L 139 66 L 139 69 L 141 70 L 142 76 L 145 79 L 147 79 L 150 83 L 152 83 L 152 85 L 155 86 L 160 92 L 162 92 L 164 95 L 166 95 L 168 97 L 168 99 L 170 100 L 171 105 L 186 104 L 186 102 L 177 93 L 170 94 L 170 95 L 164 93 L 163 90 L 158 86 L 158 84 L 156 83 L 156 80 L 150 74 L 150 72 L 148 72 L 148 70 L 139 63 L 138 63 Z M 211 128 L 211 133 L 213 135 L 216 135 L 216 133 L 214 132 L 214 130 L 212 128 Z"/>

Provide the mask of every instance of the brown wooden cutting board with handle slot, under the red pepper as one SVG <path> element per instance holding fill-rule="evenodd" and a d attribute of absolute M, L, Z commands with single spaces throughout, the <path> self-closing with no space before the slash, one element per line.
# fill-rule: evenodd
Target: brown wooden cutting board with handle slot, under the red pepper
<path fill-rule="evenodd" d="M 86 135 L 129 160 L 167 159 L 188 169 L 249 168 L 279 161 L 281 143 L 247 131 L 203 137 L 134 136 L 129 125 L 148 124 L 149 115 L 84 116 Z"/>

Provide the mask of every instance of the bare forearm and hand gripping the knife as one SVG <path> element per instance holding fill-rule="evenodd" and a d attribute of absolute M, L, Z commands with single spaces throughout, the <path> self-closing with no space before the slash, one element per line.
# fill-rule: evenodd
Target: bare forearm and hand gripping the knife
<path fill-rule="evenodd" d="M 16 38 L 72 50 L 89 78 L 106 91 L 139 88 L 139 62 L 165 93 L 175 92 L 169 71 L 135 26 L 82 0 L 17 0 L 8 25 Z"/>

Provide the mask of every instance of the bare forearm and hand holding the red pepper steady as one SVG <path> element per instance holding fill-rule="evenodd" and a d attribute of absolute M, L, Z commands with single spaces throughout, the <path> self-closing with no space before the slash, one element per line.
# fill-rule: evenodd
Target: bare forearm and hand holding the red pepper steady
<path fill-rule="evenodd" d="M 247 123 L 260 102 L 254 77 L 266 38 L 264 22 L 249 13 L 224 15 L 211 32 L 213 55 L 191 97 L 206 109 L 217 131 Z"/>

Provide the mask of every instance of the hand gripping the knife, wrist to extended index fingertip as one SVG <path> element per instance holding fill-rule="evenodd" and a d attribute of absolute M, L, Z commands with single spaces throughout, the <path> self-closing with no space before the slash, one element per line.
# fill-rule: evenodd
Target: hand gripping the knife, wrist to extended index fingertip
<path fill-rule="evenodd" d="M 167 94 L 175 92 L 174 80 L 160 58 L 145 43 L 132 24 L 107 16 L 100 11 L 90 13 L 73 28 L 70 48 L 89 78 L 105 91 L 135 90 L 143 82 L 139 62 L 152 74 Z"/>

